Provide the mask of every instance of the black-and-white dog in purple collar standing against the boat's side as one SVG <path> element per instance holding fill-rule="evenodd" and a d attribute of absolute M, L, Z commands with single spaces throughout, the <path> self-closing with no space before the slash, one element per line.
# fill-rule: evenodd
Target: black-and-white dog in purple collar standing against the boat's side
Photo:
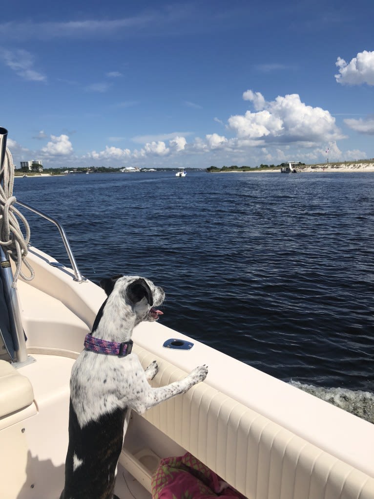
<path fill-rule="evenodd" d="M 157 362 L 143 369 L 131 352 L 133 328 L 163 313 L 154 307 L 164 290 L 139 276 L 115 275 L 100 281 L 107 298 L 70 378 L 69 444 L 60 499 L 112 499 L 117 463 L 131 410 L 139 414 L 187 392 L 207 375 L 196 367 L 181 381 L 152 388 Z M 117 498 L 118 499 L 118 498 Z"/>

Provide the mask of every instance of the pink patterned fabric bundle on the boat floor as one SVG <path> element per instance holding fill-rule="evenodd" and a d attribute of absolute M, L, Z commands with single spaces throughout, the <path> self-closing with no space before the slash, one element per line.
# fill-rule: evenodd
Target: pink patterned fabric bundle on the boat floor
<path fill-rule="evenodd" d="M 153 499 L 245 499 L 187 452 L 164 458 L 152 477 Z"/>

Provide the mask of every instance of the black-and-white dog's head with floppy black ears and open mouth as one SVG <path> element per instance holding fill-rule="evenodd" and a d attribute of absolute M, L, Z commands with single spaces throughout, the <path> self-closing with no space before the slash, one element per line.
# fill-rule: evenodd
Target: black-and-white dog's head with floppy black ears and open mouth
<path fill-rule="evenodd" d="M 100 281 L 100 286 L 108 295 L 108 299 L 124 300 L 136 315 L 135 324 L 141 321 L 155 321 L 163 312 L 155 307 L 162 304 L 165 292 L 144 277 L 130 275 L 114 275 Z M 121 307 L 121 304 L 118 304 Z"/>

